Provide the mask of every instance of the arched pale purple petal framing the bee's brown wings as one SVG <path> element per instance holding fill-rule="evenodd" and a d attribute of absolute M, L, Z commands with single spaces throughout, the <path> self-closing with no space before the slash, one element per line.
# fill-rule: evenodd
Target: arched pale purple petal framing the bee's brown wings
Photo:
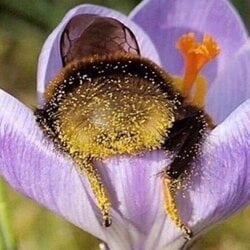
<path fill-rule="evenodd" d="M 141 54 L 157 63 L 159 62 L 158 53 L 156 52 L 156 49 L 148 35 L 125 15 L 101 6 L 89 4 L 79 5 L 66 14 L 64 19 L 51 33 L 43 46 L 39 57 L 37 72 L 37 91 L 40 103 L 43 101 L 42 96 L 48 82 L 62 69 L 59 42 L 63 29 L 73 16 L 84 13 L 116 18 L 134 33 L 139 44 Z"/>

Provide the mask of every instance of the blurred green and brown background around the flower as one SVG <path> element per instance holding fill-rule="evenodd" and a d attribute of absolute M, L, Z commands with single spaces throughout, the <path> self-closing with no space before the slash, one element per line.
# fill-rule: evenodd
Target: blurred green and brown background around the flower
<path fill-rule="evenodd" d="M 138 0 L 95 0 L 129 13 Z M 0 88 L 29 107 L 36 104 L 36 64 L 48 34 L 80 0 L 0 0 Z M 250 1 L 233 1 L 250 27 Z M 232 34 L 233 35 L 233 34 Z M 98 240 L 4 185 L 7 211 L 18 250 L 94 250 Z M 194 249 L 249 250 L 250 209 L 206 234 Z M 119 249 L 117 249 L 119 250 Z"/>

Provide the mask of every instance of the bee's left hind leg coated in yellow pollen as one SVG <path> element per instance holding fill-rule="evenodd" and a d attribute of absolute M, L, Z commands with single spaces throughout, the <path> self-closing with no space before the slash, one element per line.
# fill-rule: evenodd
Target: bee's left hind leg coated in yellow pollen
<path fill-rule="evenodd" d="M 111 202 L 103 185 L 100 174 L 91 159 L 81 158 L 80 156 L 74 156 L 73 159 L 77 164 L 80 174 L 84 174 L 88 178 L 92 192 L 97 200 L 97 205 L 102 213 L 103 226 L 109 227 L 112 224 L 110 215 Z"/>

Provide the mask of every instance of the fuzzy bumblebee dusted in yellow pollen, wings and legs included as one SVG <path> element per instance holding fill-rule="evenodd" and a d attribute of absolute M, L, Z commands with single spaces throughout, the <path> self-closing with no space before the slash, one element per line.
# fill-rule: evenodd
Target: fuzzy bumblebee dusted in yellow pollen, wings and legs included
<path fill-rule="evenodd" d="M 160 173 L 165 210 L 190 238 L 175 195 L 212 127 L 209 116 L 140 55 L 132 31 L 113 18 L 75 16 L 61 35 L 60 50 L 63 69 L 35 116 L 46 137 L 88 178 L 104 226 L 111 225 L 112 204 L 94 162 L 163 149 L 173 155 Z"/>

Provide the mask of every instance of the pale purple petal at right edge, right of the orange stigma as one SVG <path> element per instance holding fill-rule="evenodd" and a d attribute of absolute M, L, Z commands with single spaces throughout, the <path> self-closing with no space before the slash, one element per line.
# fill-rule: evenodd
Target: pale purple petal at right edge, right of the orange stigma
<path fill-rule="evenodd" d="M 250 43 L 243 46 L 210 87 L 206 110 L 216 124 L 250 98 Z"/>

